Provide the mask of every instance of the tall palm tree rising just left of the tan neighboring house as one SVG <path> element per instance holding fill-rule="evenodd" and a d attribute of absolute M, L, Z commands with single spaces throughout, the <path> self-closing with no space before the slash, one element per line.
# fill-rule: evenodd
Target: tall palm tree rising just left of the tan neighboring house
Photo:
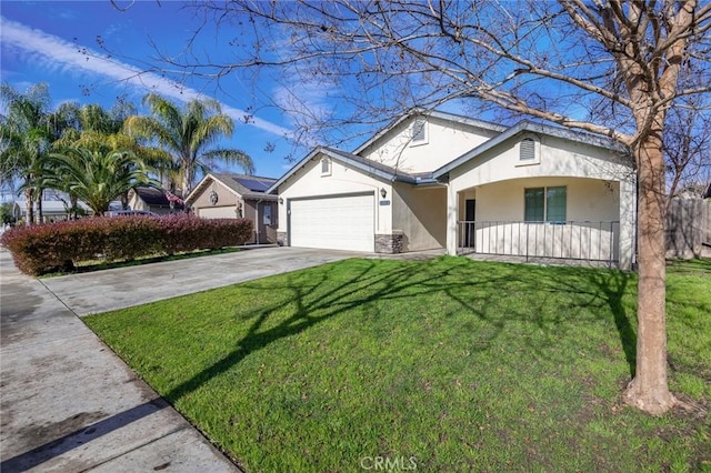
<path fill-rule="evenodd" d="M 191 100 L 181 110 L 163 97 L 149 93 L 143 103 L 152 117 L 130 117 L 126 128 L 130 135 L 154 140 L 172 154 L 172 167 L 163 168 L 171 191 L 180 185 L 183 195 L 188 194 L 197 173 L 209 172 L 216 161 L 239 164 L 247 173 L 253 172 L 252 160 L 244 152 L 216 148 L 220 139 L 231 138 L 234 131 L 234 122 L 222 113 L 218 101 Z"/>

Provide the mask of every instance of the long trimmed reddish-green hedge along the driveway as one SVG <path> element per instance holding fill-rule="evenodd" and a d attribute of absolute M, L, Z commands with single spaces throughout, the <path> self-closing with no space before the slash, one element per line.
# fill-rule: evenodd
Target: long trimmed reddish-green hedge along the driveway
<path fill-rule="evenodd" d="M 243 244 L 252 236 L 247 219 L 127 215 L 91 218 L 31 227 L 2 234 L 20 271 L 39 275 L 97 258 L 132 260 L 151 254 L 213 250 Z"/>

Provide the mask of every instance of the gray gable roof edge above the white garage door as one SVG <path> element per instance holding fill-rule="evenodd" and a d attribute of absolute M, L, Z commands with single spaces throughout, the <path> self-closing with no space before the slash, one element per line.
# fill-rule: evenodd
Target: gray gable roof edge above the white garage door
<path fill-rule="evenodd" d="M 279 187 L 283 184 L 289 178 L 299 172 L 309 161 L 314 159 L 318 155 L 326 155 L 336 161 L 340 161 L 344 164 L 350 165 L 353 169 L 362 171 L 368 175 L 372 175 L 374 178 L 380 178 L 384 181 L 398 181 L 398 182 L 408 182 L 411 184 L 423 184 L 423 183 L 434 183 L 435 181 L 431 179 L 431 173 L 425 174 L 410 174 L 403 171 L 399 171 L 395 168 L 390 165 L 372 161 L 362 157 L 359 157 L 353 153 L 349 153 L 347 151 L 337 150 L 333 148 L 327 147 L 318 147 L 314 148 L 306 158 L 294 164 L 284 175 L 282 175 L 278 181 L 276 181 L 267 192 L 273 193 L 277 192 Z"/>

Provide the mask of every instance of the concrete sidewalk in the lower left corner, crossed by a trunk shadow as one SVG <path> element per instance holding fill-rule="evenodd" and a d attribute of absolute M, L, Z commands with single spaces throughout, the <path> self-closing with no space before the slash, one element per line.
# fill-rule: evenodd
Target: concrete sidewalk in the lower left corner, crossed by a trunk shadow
<path fill-rule="evenodd" d="M 0 269 L 0 471 L 239 471 L 7 251 Z"/>

